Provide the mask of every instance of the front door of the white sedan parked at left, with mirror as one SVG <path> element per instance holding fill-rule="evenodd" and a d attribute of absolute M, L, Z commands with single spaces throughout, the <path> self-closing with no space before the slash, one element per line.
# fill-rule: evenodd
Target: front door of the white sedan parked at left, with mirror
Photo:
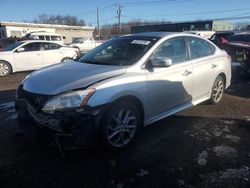
<path fill-rule="evenodd" d="M 14 52 L 15 64 L 18 71 L 34 70 L 43 66 L 43 53 L 40 42 L 31 42 L 19 48 L 24 51 Z"/>

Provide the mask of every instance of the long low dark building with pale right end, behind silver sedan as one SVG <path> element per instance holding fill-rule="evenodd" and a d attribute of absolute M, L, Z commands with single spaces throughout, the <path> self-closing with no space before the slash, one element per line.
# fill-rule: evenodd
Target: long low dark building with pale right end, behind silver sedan
<path fill-rule="evenodd" d="M 233 30 L 234 25 L 219 20 L 195 21 L 195 22 L 178 22 L 167 23 L 159 25 L 143 25 L 133 26 L 132 33 L 141 33 L 149 31 L 169 31 L 169 32 L 182 32 L 182 31 L 226 31 Z"/>

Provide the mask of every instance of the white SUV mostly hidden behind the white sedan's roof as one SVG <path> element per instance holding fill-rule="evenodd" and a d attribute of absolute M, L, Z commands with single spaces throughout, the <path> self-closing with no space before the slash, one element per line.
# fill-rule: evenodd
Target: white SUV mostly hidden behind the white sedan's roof
<path fill-rule="evenodd" d="M 58 33 L 49 33 L 45 31 L 31 32 L 26 34 L 25 38 L 31 40 L 46 40 L 46 41 L 56 42 L 59 44 L 64 44 L 62 35 Z"/>

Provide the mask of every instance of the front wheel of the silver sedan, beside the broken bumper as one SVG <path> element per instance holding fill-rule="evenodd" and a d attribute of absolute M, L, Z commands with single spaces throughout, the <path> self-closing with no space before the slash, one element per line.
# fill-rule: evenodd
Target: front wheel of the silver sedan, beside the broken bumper
<path fill-rule="evenodd" d="M 111 150 L 128 146 L 141 124 L 138 108 L 128 101 L 115 103 L 101 121 L 102 144 Z"/>

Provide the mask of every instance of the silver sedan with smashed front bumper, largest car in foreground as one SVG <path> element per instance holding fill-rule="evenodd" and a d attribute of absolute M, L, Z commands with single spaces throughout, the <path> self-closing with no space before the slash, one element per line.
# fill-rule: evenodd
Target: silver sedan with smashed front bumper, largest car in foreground
<path fill-rule="evenodd" d="M 56 143 L 121 149 L 143 126 L 206 100 L 219 103 L 230 80 L 230 57 L 202 37 L 126 35 L 78 62 L 31 73 L 17 90 L 18 122 L 24 132 L 51 130 Z"/>

